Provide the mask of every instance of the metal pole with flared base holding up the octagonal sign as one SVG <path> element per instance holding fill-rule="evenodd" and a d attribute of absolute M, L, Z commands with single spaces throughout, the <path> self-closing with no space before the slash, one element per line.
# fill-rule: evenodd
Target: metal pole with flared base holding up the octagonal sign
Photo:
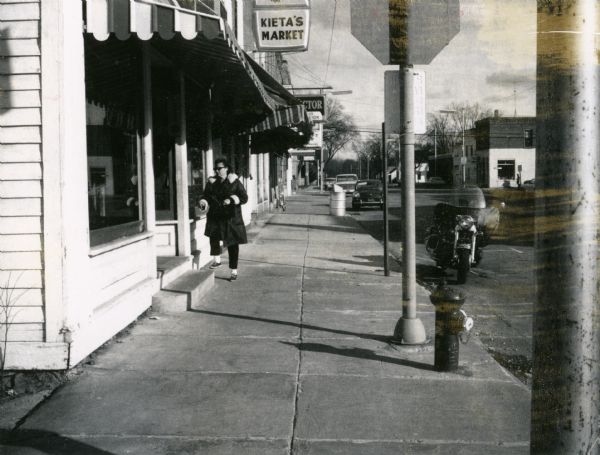
<path fill-rule="evenodd" d="M 413 68 L 400 68 L 403 102 L 402 135 L 402 318 L 396 323 L 393 340 L 403 344 L 426 341 L 425 327 L 417 318 L 416 236 L 415 236 L 415 133 L 413 121 Z"/>

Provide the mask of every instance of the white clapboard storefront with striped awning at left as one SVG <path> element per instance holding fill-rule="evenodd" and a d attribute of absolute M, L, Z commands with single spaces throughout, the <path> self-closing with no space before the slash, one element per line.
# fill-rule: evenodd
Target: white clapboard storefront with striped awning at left
<path fill-rule="evenodd" d="M 267 93 L 222 3 L 192 3 L 32 2 L 5 24 L 9 88 L 39 81 L 37 103 L 24 105 L 17 87 L 0 116 L 3 127 L 17 122 L 3 146 L 31 161 L 0 189 L 15 207 L 0 215 L 1 240 L 21 244 L 0 278 L 27 296 L 7 368 L 77 364 L 150 306 L 157 258 L 198 251 L 208 261 L 194 202 L 215 157 L 250 181 L 249 131 L 288 101 Z M 25 202 L 31 213 L 19 211 Z"/>

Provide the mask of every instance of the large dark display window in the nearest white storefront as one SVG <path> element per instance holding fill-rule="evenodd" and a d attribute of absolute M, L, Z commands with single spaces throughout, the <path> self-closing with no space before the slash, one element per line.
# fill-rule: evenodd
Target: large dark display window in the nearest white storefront
<path fill-rule="evenodd" d="M 141 58 L 131 43 L 85 40 L 90 246 L 143 232 Z"/>

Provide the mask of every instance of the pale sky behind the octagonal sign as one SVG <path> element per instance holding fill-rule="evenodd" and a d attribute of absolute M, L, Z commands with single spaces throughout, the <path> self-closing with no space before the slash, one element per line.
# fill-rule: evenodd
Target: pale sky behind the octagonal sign
<path fill-rule="evenodd" d="M 308 51 L 286 54 L 293 85 L 352 90 L 335 96 L 359 129 L 378 130 L 383 74 L 398 67 L 382 65 L 352 36 L 349 0 L 312 0 L 311 8 Z M 417 66 L 426 74 L 426 111 L 466 102 L 504 116 L 535 115 L 536 1 L 461 0 L 460 11 L 460 32 L 429 65 Z"/>

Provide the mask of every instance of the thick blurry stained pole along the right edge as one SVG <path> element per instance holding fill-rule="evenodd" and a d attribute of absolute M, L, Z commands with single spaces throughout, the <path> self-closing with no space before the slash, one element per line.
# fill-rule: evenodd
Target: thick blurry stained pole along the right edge
<path fill-rule="evenodd" d="M 532 454 L 600 450 L 597 0 L 538 7 Z"/>

